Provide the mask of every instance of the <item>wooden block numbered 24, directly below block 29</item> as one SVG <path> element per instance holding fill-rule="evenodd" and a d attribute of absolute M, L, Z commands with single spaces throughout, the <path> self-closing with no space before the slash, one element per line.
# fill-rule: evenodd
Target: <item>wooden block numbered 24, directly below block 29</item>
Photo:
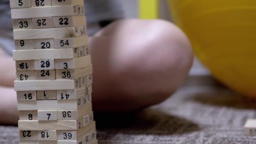
<path fill-rule="evenodd" d="M 55 70 L 36 70 L 36 80 L 55 80 Z"/>

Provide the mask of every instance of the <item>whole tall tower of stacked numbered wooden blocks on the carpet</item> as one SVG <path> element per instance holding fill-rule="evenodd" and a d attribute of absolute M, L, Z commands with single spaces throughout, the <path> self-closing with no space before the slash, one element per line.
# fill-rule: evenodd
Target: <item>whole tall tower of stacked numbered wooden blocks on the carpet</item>
<path fill-rule="evenodd" d="M 84 0 L 10 0 L 20 144 L 97 144 Z"/>

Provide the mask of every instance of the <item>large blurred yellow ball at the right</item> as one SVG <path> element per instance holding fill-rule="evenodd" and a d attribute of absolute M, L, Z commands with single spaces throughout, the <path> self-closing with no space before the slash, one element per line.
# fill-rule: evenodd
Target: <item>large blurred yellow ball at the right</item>
<path fill-rule="evenodd" d="M 256 0 L 169 0 L 176 23 L 214 77 L 256 97 Z"/>

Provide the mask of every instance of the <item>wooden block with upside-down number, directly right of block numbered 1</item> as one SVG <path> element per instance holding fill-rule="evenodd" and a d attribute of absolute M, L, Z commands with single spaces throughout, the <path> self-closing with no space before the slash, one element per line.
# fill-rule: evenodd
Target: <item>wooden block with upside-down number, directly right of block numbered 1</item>
<path fill-rule="evenodd" d="M 75 90 L 57 90 L 57 100 L 79 99 L 85 96 L 85 88 L 77 88 Z"/>

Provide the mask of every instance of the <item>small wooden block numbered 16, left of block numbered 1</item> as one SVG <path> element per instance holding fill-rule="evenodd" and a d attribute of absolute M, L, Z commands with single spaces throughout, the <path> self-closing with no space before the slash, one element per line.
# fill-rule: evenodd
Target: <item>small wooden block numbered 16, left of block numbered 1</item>
<path fill-rule="evenodd" d="M 17 91 L 17 101 L 36 101 L 36 91 Z"/>

